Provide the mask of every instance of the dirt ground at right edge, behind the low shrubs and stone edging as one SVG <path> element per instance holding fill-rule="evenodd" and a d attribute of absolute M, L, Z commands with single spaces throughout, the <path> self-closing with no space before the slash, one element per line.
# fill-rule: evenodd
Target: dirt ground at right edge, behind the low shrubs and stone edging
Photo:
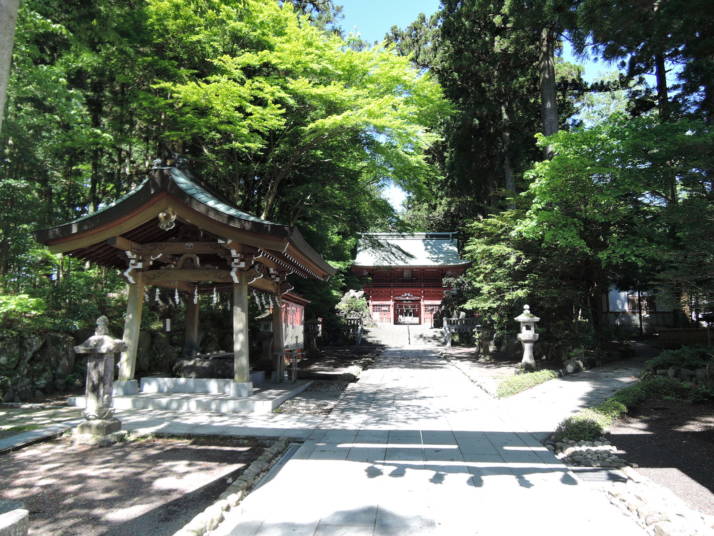
<path fill-rule="evenodd" d="M 637 471 L 714 515 L 714 402 L 653 400 L 610 429 Z"/>

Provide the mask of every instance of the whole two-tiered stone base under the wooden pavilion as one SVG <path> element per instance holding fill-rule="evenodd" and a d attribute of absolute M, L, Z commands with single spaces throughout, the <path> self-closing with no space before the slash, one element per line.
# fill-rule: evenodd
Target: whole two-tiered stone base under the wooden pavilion
<path fill-rule="evenodd" d="M 231 389 L 234 382 L 220 379 L 193 378 L 142 378 L 139 391 L 112 398 L 115 410 L 161 410 L 212 413 L 270 413 L 286 400 L 302 393 L 312 381 L 296 383 L 262 383 L 252 386 L 241 384 L 240 389 Z M 236 391 L 245 391 L 248 396 L 235 396 Z M 243 394 L 243 393 L 241 393 Z M 83 408 L 86 398 L 70 398 L 69 403 Z"/>

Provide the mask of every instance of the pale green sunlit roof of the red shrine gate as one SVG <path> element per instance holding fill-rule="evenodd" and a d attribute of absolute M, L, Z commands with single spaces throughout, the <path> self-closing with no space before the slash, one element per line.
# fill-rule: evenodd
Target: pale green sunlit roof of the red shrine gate
<path fill-rule="evenodd" d="M 363 233 L 355 266 L 456 266 L 456 233 Z"/>

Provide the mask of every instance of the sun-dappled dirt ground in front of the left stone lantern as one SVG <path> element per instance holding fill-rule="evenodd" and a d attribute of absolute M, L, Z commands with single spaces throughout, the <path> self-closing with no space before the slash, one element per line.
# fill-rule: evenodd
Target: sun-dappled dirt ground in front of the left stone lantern
<path fill-rule="evenodd" d="M 47 441 L 0 455 L 0 498 L 25 503 L 31 535 L 170 535 L 215 502 L 263 445 L 234 438 L 103 448 Z"/>

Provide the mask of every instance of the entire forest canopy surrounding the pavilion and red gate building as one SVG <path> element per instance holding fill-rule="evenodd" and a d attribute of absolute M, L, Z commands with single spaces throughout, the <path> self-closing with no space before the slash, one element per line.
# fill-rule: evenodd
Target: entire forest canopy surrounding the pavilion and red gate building
<path fill-rule="evenodd" d="M 682 325 L 711 309 L 707 2 L 443 0 L 373 46 L 339 16 L 329 0 L 23 2 L 0 132 L 0 322 L 120 316 L 117 274 L 32 232 L 172 155 L 340 268 L 299 286 L 312 315 L 357 285 L 358 233 L 387 230 L 458 232 L 473 265 L 449 310 L 498 333 L 529 302 L 564 339 L 600 344 L 612 286 L 658 294 Z M 566 42 L 614 72 L 586 81 Z M 385 181 L 408 193 L 404 213 Z"/>

